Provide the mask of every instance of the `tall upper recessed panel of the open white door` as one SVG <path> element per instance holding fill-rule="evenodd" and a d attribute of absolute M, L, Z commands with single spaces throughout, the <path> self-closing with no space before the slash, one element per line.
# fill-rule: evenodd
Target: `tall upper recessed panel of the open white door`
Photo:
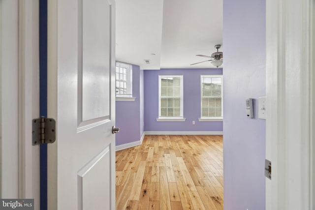
<path fill-rule="evenodd" d="M 110 68 L 107 68 L 110 66 L 110 7 L 106 0 L 79 0 L 78 6 L 82 120 L 85 121 L 110 115 L 110 89 L 106 87 L 110 79 Z"/>

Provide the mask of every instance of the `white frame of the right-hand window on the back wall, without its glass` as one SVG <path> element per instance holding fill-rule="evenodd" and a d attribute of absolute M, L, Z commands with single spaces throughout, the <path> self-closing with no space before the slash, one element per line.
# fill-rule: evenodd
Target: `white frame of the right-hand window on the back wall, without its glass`
<path fill-rule="evenodd" d="M 202 99 L 204 98 L 203 93 L 203 86 L 202 86 L 202 79 L 203 78 L 214 78 L 219 77 L 221 78 L 221 117 L 202 117 Z M 207 97 L 207 98 L 216 98 L 216 97 Z M 200 118 L 199 121 L 223 121 L 223 75 L 200 75 Z"/>

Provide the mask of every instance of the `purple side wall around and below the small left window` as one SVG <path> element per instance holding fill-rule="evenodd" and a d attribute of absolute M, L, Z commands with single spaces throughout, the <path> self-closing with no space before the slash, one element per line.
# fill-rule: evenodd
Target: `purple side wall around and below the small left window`
<path fill-rule="evenodd" d="M 132 96 L 135 101 L 116 101 L 116 146 L 139 141 L 140 136 L 140 67 L 132 65 Z M 142 73 L 143 74 L 143 73 Z M 142 135 L 142 133 L 141 133 Z"/>

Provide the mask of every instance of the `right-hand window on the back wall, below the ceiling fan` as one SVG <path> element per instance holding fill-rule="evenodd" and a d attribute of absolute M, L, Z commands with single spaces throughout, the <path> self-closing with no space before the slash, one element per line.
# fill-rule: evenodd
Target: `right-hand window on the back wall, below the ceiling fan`
<path fill-rule="evenodd" d="M 201 75 L 201 119 L 222 120 L 222 76 Z"/>

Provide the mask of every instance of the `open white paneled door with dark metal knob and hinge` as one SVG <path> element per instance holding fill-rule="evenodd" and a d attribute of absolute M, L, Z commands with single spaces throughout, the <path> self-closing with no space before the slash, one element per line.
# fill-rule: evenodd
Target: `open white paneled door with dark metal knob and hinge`
<path fill-rule="evenodd" d="M 115 209 L 115 1 L 48 1 L 49 210 Z"/>

